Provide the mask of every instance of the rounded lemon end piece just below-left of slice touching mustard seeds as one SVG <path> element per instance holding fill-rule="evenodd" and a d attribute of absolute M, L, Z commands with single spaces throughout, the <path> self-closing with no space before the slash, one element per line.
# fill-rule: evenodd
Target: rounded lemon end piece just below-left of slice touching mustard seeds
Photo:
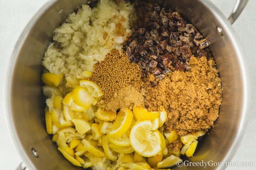
<path fill-rule="evenodd" d="M 81 86 L 75 87 L 72 92 L 72 98 L 75 104 L 85 109 L 89 109 L 94 101 L 94 98 L 91 96 L 87 88 Z"/>

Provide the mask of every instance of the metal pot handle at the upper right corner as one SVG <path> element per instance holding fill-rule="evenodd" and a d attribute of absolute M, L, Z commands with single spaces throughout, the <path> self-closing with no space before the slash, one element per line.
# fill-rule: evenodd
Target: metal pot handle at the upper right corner
<path fill-rule="evenodd" d="M 248 0 L 236 0 L 235 7 L 228 18 L 231 24 L 233 24 L 236 21 L 236 19 L 239 17 L 242 10 L 246 6 L 247 2 Z"/>

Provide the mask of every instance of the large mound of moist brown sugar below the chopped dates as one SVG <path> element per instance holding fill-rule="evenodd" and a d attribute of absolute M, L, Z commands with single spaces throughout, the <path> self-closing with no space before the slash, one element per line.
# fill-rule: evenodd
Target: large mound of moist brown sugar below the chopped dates
<path fill-rule="evenodd" d="M 145 106 L 156 111 L 164 106 L 167 112 L 166 130 L 180 135 L 210 129 L 219 116 L 222 98 L 221 80 L 213 58 L 190 59 L 191 70 L 169 73 L 155 87 L 147 81 Z"/>

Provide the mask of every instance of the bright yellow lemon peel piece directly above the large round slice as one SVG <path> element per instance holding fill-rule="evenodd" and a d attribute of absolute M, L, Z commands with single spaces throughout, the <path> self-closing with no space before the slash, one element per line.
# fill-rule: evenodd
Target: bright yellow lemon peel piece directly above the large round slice
<path fill-rule="evenodd" d="M 133 115 L 137 120 L 154 120 L 159 117 L 159 112 L 149 112 L 143 106 L 135 106 L 133 107 Z"/>

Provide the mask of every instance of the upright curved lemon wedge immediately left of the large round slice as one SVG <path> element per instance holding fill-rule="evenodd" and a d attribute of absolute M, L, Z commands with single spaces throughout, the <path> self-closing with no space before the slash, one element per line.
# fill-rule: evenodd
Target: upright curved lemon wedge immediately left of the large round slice
<path fill-rule="evenodd" d="M 110 137 L 118 138 L 123 136 L 129 129 L 130 124 L 133 121 L 133 113 L 128 108 L 120 109 L 117 114 L 116 120 L 113 122 L 112 131 L 109 132 Z"/>

